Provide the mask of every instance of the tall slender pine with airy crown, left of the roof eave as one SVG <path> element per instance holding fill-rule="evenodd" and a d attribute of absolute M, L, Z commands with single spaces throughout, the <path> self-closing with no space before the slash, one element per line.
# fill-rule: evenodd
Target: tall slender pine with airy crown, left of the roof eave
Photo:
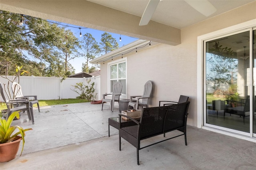
<path fill-rule="evenodd" d="M 100 47 L 96 40 L 92 37 L 92 34 L 84 34 L 81 50 L 84 52 L 82 56 L 86 59 L 86 63 L 83 63 L 82 65 L 82 71 L 89 73 L 89 60 L 94 59 L 95 56 L 100 53 Z"/>

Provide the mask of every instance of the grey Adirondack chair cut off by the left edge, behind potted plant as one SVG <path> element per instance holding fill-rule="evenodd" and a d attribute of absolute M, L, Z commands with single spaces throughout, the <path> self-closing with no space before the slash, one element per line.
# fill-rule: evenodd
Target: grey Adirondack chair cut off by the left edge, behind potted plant
<path fill-rule="evenodd" d="M 33 109 L 32 107 L 30 107 L 30 102 L 27 99 L 11 99 L 11 100 L 6 99 L 4 94 L 4 88 L 1 83 L 0 83 L 0 93 L 7 106 L 6 120 L 15 111 L 27 111 L 28 119 L 32 121 L 32 124 L 34 124 Z M 16 107 L 12 107 L 13 104 L 16 104 Z"/>

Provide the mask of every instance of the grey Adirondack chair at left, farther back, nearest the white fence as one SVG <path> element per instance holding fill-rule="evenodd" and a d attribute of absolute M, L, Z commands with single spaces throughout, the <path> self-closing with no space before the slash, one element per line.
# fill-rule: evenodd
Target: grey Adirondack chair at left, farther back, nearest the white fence
<path fill-rule="evenodd" d="M 38 103 L 38 100 L 37 100 L 37 96 L 34 96 L 34 95 L 31 95 L 31 96 L 24 96 L 22 94 L 22 90 L 21 90 L 21 86 L 20 84 L 16 83 L 16 82 L 13 82 L 12 83 L 12 92 L 15 96 L 15 99 L 27 99 L 29 100 L 30 97 L 33 97 L 34 99 L 33 100 L 30 100 L 30 107 L 33 108 L 33 105 L 34 104 L 37 104 L 37 108 L 38 108 L 38 112 L 40 112 L 40 108 L 39 108 L 39 103 Z"/>

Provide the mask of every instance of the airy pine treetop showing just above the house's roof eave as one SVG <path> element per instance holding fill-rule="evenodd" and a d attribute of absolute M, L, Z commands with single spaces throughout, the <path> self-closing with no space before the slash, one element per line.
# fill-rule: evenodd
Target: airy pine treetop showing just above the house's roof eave
<path fill-rule="evenodd" d="M 101 51 L 105 54 L 119 47 L 118 43 L 116 42 L 116 39 L 113 38 L 111 34 L 108 34 L 107 32 L 104 32 L 101 35 L 100 45 Z"/>

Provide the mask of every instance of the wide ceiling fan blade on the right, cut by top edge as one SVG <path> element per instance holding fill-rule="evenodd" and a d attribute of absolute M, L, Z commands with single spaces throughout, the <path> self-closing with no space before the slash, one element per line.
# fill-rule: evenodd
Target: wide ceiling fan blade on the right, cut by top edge
<path fill-rule="evenodd" d="M 185 0 L 195 10 L 203 14 L 204 16 L 210 16 L 217 9 L 208 0 Z"/>

